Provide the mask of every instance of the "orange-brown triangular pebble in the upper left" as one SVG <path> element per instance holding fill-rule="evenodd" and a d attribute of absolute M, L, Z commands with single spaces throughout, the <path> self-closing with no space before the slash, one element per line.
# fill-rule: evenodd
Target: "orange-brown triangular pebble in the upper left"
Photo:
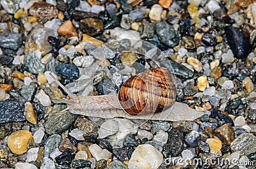
<path fill-rule="evenodd" d="M 59 28 L 58 34 L 67 35 L 69 37 L 78 36 L 77 31 L 70 20 L 65 21 Z"/>

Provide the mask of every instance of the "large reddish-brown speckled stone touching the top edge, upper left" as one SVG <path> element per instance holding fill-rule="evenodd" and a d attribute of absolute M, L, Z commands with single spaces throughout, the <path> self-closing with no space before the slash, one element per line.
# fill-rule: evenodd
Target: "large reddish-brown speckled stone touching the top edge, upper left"
<path fill-rule="evenodd" d="M 29 10 L 30 15 L 37 18 L 39 24 L 45 24 L 48 20 L 58 16 L 56 6 L 46 3 L 45 1 L 38 1 L 31 6 Z"/>

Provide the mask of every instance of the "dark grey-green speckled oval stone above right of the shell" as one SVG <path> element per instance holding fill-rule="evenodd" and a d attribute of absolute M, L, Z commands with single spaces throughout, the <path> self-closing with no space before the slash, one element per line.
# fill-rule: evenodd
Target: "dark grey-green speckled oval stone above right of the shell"
<path fill-rule="evenodd" d="M 156 34 L 161 42 L 168 47 L 175 47 L 179 42 L 179 34 L 171 24 L 167 22 L 156 22 Z"/>

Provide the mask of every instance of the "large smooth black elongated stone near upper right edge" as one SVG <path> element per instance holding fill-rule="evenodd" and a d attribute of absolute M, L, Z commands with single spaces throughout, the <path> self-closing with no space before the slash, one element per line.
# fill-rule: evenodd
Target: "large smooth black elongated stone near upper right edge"
<path fill-rule="evenodd" d="M 250 52 L 252 52 L 252 45 L 248 38 L 235 27 L 227 27 L 226 34 L 234 57 L 237 59 L 244 59 Z"/>

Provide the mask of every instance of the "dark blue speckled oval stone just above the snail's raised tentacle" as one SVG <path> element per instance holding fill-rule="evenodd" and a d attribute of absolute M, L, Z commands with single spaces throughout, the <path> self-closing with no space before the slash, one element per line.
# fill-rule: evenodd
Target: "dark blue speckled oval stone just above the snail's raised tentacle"
<path fill-rule="evenodd" d="M 74 64 L 58 64 L 55 71 L 67 78 L 77 79 L 79 77 L 79 70 Z"/>

